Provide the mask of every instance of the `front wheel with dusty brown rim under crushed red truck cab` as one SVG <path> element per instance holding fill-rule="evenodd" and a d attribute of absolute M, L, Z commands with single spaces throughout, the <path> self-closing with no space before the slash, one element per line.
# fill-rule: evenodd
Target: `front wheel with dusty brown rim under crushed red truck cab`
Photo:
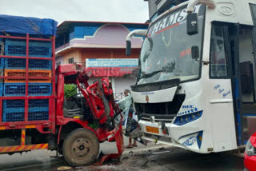
<path fill-rule="evenodd" d="M 62 148 L 68 164 L 90 165 L 98 156 L 98 137 L 89 129 L 75 129 L 66 136 Z"/>

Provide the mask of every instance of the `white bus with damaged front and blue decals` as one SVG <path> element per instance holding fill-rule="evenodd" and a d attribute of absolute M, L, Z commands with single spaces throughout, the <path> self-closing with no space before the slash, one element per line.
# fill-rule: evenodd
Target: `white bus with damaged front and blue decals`
<path fill-rule="evenodd" d="M 245 145 L 256 132 L 256 1 L 183 2 L 131 32 L 127 54 L 135 34 L 145 36 L 131 91 L 141 138 L 197 153 Z"/>

